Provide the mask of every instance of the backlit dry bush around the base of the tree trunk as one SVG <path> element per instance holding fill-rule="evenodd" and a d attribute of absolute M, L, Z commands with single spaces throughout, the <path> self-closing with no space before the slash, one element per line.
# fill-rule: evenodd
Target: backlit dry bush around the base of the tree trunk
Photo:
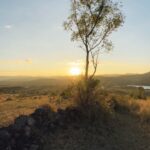
<path fill-rule="evenodd" d="M 77 83 L 74 93 L 75 105 L 92 122 L 108 119 L 112 112 L 107 101 L 107 92 L 100 88 L 99 83 L 96 79 L 89 79 L 87 82 L 82 79 Z"/>

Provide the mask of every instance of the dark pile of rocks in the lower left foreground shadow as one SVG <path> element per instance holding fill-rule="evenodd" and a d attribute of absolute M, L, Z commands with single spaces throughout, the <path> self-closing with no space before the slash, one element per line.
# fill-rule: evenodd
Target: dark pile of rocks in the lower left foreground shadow
<path fill-rule="evenodd" d="M 54 112 L 50 107 L 40 107 L 33 114 L 19 116 L 12 125 L 0 129 L 0 150 L 42 150 L 47 134 L 59 128 L 67 129 L 80 118 L 80 111 L 75 108 Z"/>

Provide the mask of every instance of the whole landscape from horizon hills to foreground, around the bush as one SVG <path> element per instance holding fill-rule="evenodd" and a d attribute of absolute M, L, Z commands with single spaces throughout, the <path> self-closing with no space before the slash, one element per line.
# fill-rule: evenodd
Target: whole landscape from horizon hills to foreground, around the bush
<path fill-rule="evenodd" d="M 97 78 L 108 90 L 91 105 L 65 94 L 75 78 L 1 78 L 0 150 L 148 150 L 150 94 L 123 86 L 150 85 L 150 73 Z"/>

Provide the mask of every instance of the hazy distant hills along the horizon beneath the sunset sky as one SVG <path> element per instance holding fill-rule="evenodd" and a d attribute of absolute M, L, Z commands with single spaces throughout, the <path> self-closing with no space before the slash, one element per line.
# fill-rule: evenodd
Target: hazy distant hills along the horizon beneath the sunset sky
<path fill-rule="evenodd" d="M 100 79 L 101 84 L 106 87 L 126 85 L 150 86 L 150 72 L 132 75 L 97 76 L 96 78 Z M 74 79 L 72 77 L 0 77 L 0 86 L 64 86 L 73 81 Z"/>

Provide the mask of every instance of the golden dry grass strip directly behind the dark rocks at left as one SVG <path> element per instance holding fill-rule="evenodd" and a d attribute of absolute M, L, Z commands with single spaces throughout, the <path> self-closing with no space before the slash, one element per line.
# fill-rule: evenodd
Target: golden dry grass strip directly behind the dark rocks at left
<path fill-rule="evenodd" d="M 7 126 L 20 115 L 31 114 L 36 108 L 42 105 L 50 105 L 53 110 L 57 108 L 66 108 L 70 101 L 61 101 L 58 97 L 49 96 L 21 97 L 12 94 L 0 95 L 0 127 Z"/>

